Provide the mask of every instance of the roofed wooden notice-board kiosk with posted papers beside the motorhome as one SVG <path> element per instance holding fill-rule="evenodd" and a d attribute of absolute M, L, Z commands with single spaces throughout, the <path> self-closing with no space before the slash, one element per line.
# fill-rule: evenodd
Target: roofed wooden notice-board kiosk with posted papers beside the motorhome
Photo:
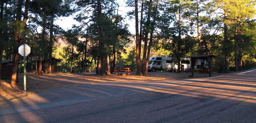
<path fill-rule="evenodd" d="M 191 58 L 191 70 L 192 75 L 189 77 L 194 77 L 194 69 L 202 69 L 203 72 L 209 73 L 209 77 L 212 77 L 212 57 L 214 55 L 199 55 L 199 56 L 186 56 L 186 58 Z"/>

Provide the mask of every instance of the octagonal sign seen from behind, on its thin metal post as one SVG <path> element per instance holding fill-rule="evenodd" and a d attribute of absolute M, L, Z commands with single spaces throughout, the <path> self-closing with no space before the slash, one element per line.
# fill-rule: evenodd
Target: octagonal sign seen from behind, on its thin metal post
<path fill-rule="evenodd" d="M 19 53 L 24 56 L 24 92 L 26 93 L 26 56 L 30 53 L 30 47 L 26 44 L 19 47 Z"/>

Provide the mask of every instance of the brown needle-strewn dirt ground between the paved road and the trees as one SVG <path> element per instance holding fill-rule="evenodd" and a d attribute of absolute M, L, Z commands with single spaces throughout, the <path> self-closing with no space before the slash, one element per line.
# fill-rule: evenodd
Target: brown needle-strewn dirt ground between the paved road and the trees
<path fill-rule="evenodd" d="M 19 74 L 19 83 L 11 84 L 11 79 L 0 81 L 0 105 L 14 101 L 26 96 L 45 92 L 55 87 L 76 86 L 80 84 L 94 84 L 97 82 L 143 82 L 143 81 L 168 81 L 190 79 L 191 73 L 170 73 L 170 72 L 148 72 L 147 76 L 131 75 L 107 75 L 100 76 L 96 73 L 53 73 L 36 75 L 26 73 L 26 93 L 24 93 L 23 74 Z M 224 75 L 223 73 L 212 73 L 212 76 Z M 209 77 L 207 73 L 194 73 L 193 78 Z"/>

